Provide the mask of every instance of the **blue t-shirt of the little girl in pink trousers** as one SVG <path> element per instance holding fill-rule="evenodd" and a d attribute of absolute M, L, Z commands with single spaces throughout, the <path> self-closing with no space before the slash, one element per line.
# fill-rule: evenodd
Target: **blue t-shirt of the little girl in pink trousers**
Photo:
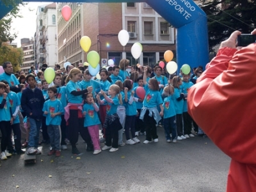
<path fill-rule="evenodd" d="M 95 103 L 95 105 L 97 104 Z M 95 126 L 97 124 L 100 124 L 100 119 L 93 107 L 93 104 L 85 103 L 83 106 L 83 112 L 86 112 L 84 117 L 84 128 L 88 126 Z"/>

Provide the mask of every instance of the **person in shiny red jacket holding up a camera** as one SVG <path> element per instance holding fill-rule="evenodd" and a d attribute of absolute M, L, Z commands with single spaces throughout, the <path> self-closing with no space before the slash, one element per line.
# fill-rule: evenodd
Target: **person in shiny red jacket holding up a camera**
<path fill-rule="evenodd" d="M 227 191 L 256 191 L 256 43 L 235 31 L 188 91 L 188 112 L 231 158 Z M 256 34 L 256 29 L 252 32 Z"/>

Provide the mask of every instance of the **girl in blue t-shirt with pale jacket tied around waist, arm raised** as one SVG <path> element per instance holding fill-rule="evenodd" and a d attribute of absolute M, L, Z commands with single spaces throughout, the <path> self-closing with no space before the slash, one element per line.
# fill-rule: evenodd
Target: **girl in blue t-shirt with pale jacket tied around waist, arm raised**
<path fill-rule="evenodd" d="M 147 83 L 147 67 L 144 69 L 143 83 L 145 85 L 146 96 L 143 100 L 143 108 L 141 108 L 140 119 L 143 119 L 146 128 L 146 140 L 143 144 L 158 142 L 156 124 L 163 116 L 163 100 L 159 92 L 159 85 L 156 78 L 151 78 Z M 157 106 L 161 109 L 159 113 Z"/>

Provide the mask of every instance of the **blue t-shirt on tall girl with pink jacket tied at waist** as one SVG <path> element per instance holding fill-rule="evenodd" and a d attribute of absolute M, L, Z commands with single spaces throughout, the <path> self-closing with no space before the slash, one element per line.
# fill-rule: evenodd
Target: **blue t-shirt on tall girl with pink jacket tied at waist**
<path fill-rule="evenodd" d="M 83 102 L 83 96 L 74 96 L 71 94 L 72 91 L 81 91 L 81 86 L 77 82 L 72 82 L 70 80 L 66 85 L 66 93 L 67 93 L 67 100 L 68 103 L 82 103 Z"/>

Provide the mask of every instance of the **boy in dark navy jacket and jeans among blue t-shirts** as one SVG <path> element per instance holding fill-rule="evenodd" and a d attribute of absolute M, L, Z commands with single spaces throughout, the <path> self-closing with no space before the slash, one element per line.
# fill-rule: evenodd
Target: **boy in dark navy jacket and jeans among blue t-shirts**
<path fill-rule="evenodd" d="M 26 77 L 26 82 L 28 87 L 22 92 L 21 108 L 26 112 L 30 123 L 27 154 L 41 154 L 37 147 L 45 100 L 42 91 L 35 85 L 36 79 L 33 74 Z"/>

